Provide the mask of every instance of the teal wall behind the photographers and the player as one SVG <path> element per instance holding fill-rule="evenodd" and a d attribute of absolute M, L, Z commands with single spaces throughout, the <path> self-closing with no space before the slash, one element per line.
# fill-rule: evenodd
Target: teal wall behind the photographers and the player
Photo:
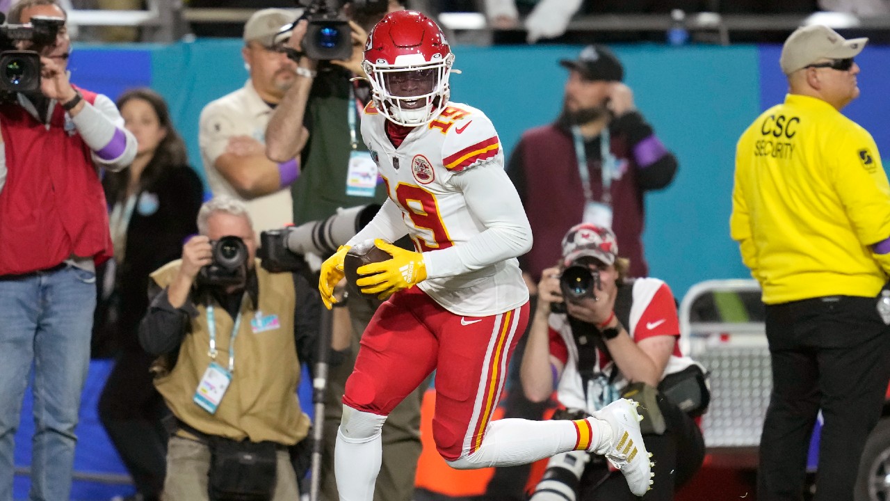
<path fill-rule="evenodd" d="M 199 168 L 198 116 L 206 103 L 246 81 L 240 47 L 237 39 L 199 40 L 87 47 L 78 55 L 83 60 L 85 51 L 108 57 L 109 51 L 122 50 L 123 65 L 144 62 L 149 55 L 150 85 L 170 103 Z M 732 158 L 740 132 L 761 109 L 762 49 L 614 48 L 626 65 L 638 108 L 680 161 L 674 184 L 646 197 L 643 240 L 651 274 L 665 279 L 678 297 L 702 280 L 747 277 L 728 236 Z M 452 99 L 488 113 L 509 154 L 522 131 L 556 116 L 566 78 L 557 62 L 576 56 L 578 47 L 459 46 L 455 53 L 455 67 L 463 73 L 451 77 Z"/>

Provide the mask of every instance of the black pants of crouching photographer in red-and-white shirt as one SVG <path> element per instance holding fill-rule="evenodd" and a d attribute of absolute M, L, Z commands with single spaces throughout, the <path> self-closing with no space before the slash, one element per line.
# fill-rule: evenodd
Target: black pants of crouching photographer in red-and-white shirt
<path fill-rule="evenodd" d="M 667 429 L 661 435 L 645 434 L 643 442 L 655 461 L 652 489 L 643 501 L 670 501 L 674 492 L 692 479 L 705 460 L 705 441 L 698 425 L 686 413 L 659 395 L 659 409 Z M 621 472 L 609 472 L 601 456 L 592 456 L 581 476 L 578 501 L 635 501 Z"/>

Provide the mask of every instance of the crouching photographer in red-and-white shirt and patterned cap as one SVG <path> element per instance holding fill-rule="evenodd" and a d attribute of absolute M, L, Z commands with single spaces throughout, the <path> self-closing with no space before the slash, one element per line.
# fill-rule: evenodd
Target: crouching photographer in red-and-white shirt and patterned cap
<path fill-rule="evenodd" d="M 690 362 L 676 344 L 674 296 L 657 278 L 628 279 L 629 265 L 618 257 L 611 230 L 591 224 L 569 230 L 561 266 L 544 270 L 538 283 L 522 389 L 535 402 L 555 389 L 562 410 L 554 419 L 577 419 L 622 395 L 639 401 L 643 439 L 655 462 L 655 481 L 643 499 L 669 500 L 698 472 L 704 442 L 692 417 L 655 389 L 666 373 Z M 552 311 L 563 305 L 564 313 Z M 573 497 L 553 497 L 554 489 Z M 554 456 L 536 492 L 533 501 L 635 499 L 620 475 L 578 451 Z"/>

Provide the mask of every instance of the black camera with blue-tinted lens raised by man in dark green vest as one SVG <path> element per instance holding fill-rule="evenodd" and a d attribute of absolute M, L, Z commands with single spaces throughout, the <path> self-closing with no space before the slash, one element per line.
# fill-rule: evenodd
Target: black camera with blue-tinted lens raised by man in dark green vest
<path fill-rule="evenodd" d="M 349 21 L 340 14 L 345 4 L 352 4 L 362 12 L 381 14 L 389 6 L 388 0 L 300 0 L 297 3 L 305 7 L 300 19 L 309 23 L 301 49 L 306 56 L 318 61 L 352 56 L 352 29 Z M 282 29 L 282 33 L 293 29 L 294 24 Z"/>

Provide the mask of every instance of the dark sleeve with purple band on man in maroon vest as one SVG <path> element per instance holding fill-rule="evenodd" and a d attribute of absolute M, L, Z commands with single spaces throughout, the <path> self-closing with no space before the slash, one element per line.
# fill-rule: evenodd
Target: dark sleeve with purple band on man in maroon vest
<path fill-rule="evenodd" d="M 658 190 L 674 180 L 676 157 L 655 136 L 643 115 L 638 111 L 629 111 L 615 119 L 612 128 L 616 134 L 627 137 L 627 145 L 637 167 L 637 183 L 641 189 Z"/>

